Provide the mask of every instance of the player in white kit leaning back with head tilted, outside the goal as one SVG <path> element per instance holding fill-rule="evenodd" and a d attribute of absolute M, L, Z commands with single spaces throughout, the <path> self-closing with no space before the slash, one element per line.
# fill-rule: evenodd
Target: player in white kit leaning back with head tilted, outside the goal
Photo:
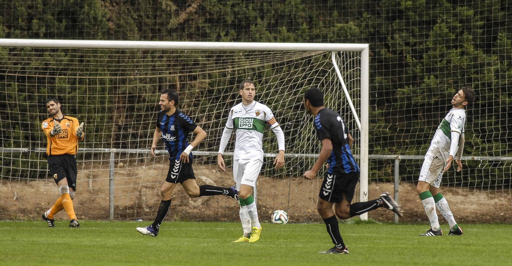
<path fill-rule="evenodd" d="M 443 232 L 439 226 L 436 206 L 450 225 L 449 235 L 461 235 L 462 229 L 457 225 L 448 202 L 441 195 L 439 185 L 443 173 L 452 165 L 455 155 L 457 172 L 462 170 L 462 151 L 464 149 L 464 131 L 466 111 L 464 107 L 475 101 L 475 92 L 470 87 L 463 87 L 452 99 L 453 108 L 446 114 L 432 138 L 429 150 L 421 166 L 416 191 L 423 203 L 431 228 L 420 236 L 437 236 Z M 434 195 L 434 196 L 433 196 Z M 434 206 L 435 205 L 435 206 Z"/>

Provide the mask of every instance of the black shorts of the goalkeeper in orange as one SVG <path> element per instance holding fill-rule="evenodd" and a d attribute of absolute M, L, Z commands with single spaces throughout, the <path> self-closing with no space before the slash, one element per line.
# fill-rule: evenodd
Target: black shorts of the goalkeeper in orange
<path fill-rule="evenodd" d="M 75 155 L 48 155 L 48 170 L 55 184 L 58 184 L 60 180 L 66 178 L 68 180 L 68 186 L 76 191 L 77 170 Z"/>

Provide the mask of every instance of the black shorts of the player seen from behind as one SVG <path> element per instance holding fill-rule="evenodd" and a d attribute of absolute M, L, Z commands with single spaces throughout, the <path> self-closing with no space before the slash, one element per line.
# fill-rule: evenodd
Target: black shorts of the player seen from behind
<path fill-rule="evenodd" d="M 352 202 L 357 182 L 359 181 L 359 172 L 352 173 L 325 173 L 324 182 L 320 187 L 318 197 L 328 202 L 342 202 L 343 196 Z"/>

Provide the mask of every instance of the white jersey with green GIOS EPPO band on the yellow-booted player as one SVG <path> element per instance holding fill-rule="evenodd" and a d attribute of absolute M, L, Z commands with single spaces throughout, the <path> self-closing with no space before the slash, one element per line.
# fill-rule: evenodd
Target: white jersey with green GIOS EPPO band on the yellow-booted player
<path fill-rule="evenodd" d="M 263 130 L 279 126 L 270 109 L 253 101 L 245 106 L 237 104 L 229 111 L 226 128 L 236 131 L 233 160 L 258 159 L 263 161 Z"/>

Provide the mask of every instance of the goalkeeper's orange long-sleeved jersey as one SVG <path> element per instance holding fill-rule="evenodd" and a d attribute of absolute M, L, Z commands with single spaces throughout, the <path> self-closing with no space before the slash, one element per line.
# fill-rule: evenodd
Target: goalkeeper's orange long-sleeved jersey
<path fill-rule="evenodd" d="M 57 120 L 62 127 L 62 131 L 55 135 L 50 136 L 50 131 L 55 126 L 55 120 Z M 80 125 L 78 119 L 71 116 L 63 116 L 62 119 L 54 119 L 50 117 L 42 122 L 41 128 L 45 131 L 48 139 L 48 146 L 46 147 L 46 154 L 48 155 L 61 155 L 61 154 L 76 154 L 78 151 L 78 140 L 83 140 L 86 137 L 84 133 L 82 138 L 78 138 L 76 130 Z"/>

